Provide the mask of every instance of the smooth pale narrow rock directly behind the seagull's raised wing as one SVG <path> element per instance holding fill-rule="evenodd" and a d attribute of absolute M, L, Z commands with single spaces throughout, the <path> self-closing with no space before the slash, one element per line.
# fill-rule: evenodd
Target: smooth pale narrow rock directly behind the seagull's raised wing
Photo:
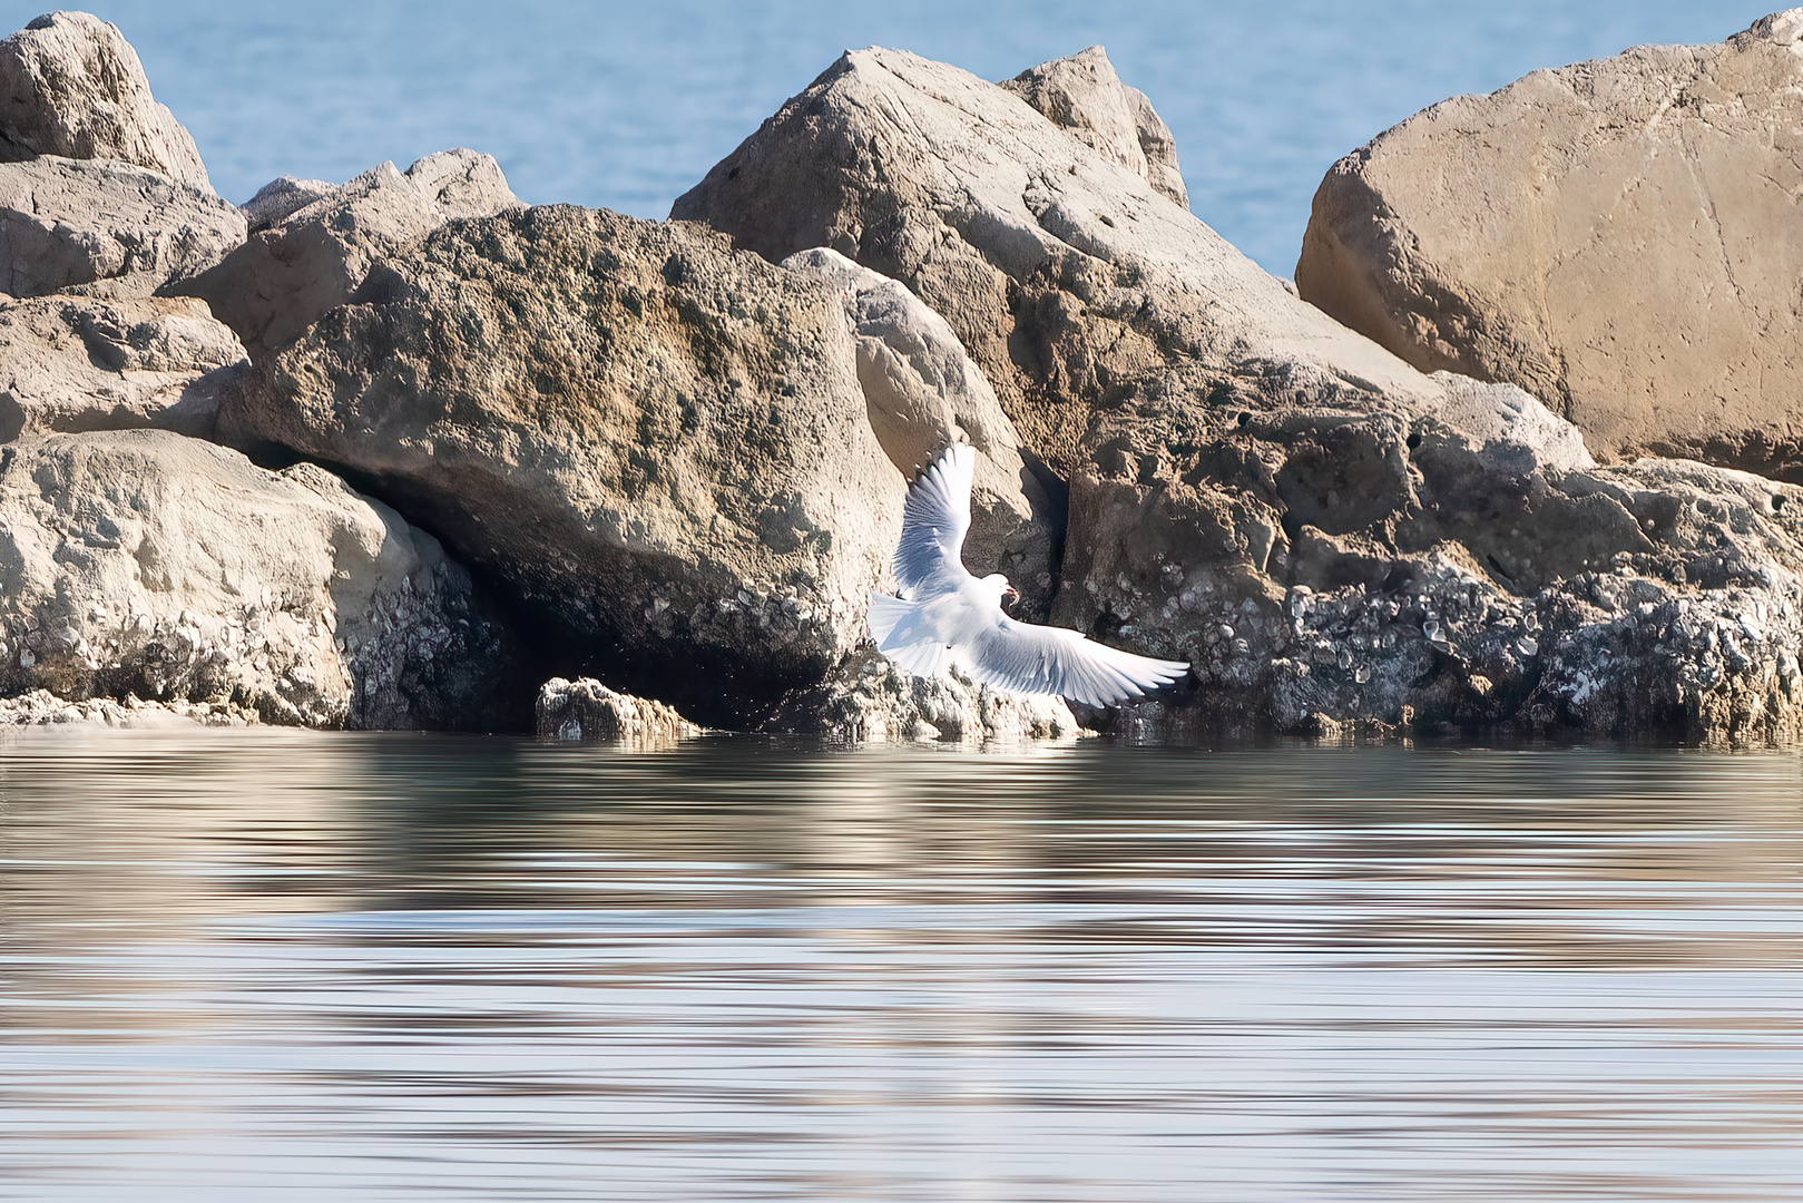
<path fill-rule="evenodd" d="M 871 429 L 907 480 L 952 442 L 977 449 L 965 563 L 979 577 L 1001 572 L 1013 581 L 1017 615 L 1044 617 L 1064 541 L 1064 489 L 1022 458 L 1013 422 L 957 335 L 898 281 L 837 251 L 802 251 L 783 267 L 844 292 Z"/>

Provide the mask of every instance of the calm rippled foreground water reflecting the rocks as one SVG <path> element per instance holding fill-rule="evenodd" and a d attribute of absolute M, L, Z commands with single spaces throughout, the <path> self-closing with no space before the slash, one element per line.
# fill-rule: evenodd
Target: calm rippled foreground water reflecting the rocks
<path fill-rule="evenodd" d="M 1794 756 L 0 745 L 0 1198 L 1803 1198 Z"/>

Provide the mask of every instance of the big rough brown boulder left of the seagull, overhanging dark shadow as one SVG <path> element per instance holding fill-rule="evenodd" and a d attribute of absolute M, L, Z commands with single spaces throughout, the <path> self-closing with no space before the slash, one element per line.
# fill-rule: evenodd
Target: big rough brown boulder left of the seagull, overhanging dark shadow
<path fill-rule="evenodd" d="M 855 647 L 889 572 L 855 359 L 828 281 L 559 206 L 400 253 L 220 427 L 431 514 L 559 662 L 728 725 Z"/>

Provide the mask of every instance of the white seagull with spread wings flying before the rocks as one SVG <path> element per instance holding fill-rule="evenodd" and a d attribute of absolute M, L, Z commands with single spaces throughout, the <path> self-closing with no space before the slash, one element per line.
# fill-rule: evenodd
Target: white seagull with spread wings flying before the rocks
<path fill-rule="evenodd" d="M 1002 597 L 1019 597 L 1008 577 L 977 579 L 963 561 L 975 465 L 975 449 L 956 442 L 909 487 L 894 561 L 902 595 L 871 593 L 876 649 L 916 676 L 957 660 L 984 685 L 1089 705 L 1118 705 L 1181 680 L 1190 671 L 1183 660 L 1136 657 L 1002 613 Z"/>

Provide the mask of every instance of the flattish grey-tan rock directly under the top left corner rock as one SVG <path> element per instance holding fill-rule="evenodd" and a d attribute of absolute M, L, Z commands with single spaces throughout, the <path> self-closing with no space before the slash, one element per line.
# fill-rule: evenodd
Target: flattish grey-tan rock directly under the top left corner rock
<path fill-rule="evenodd" d="M 0 294 L 146 298 L 243 242 L 231 204 L 124 162 L 0 162 Z"/>

